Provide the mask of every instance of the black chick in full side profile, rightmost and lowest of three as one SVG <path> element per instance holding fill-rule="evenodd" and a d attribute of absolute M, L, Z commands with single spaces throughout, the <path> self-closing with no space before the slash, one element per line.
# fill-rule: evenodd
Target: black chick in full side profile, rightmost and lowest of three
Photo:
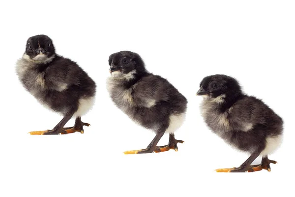
<path fill-rule="evenodd" d="M 251 156 L 237 168 L 217 172 L 245 172 L 267 169 L 267 155 L 282 142 L 283 120 L 262 100 L 242 93 L 236 79 L 226 75 L 205 77 L 197 95 L 202 95 L 202 116 L 207 126 L 233 147 Z M 251 165 L 262 156 L 260 165 Z"/>

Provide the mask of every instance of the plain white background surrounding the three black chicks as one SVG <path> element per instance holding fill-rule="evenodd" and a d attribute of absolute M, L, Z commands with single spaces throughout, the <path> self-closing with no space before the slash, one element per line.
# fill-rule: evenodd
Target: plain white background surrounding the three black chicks
<path fill-rule="evenodd" d="M 292 196 L 294 192 L 295 4 L 284 0 L 3 1 L 0 6 L 0 196 Z M 57 53 L 97 83 L 85 133 L 31 136 L 62 117 L 19 83 L 15 62 L 30 36 L 47 34 Z M 154 133 L 134 124 L 106 91 L 110 54 L 130 50 L 188 99 L 184 140 L 159 154 L 145 148 Z M 199 83 L 211 74 L 239 80 L 285 121 L 284 143 L 255 173 L 216 173 L 247 158 L 209 131 L 200 116 Z M 68 127 L 73 126 L 70 120 Z M 168 142 L 168 135 L 160 145 Z M 255 161 L 256 164 L 260 160 Z M 291 179 L 291 180 L 290 180 Z"/>

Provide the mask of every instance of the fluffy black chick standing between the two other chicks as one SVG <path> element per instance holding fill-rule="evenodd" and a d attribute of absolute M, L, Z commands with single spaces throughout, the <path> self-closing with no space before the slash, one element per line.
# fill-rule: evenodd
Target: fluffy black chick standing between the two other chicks
<path fill-rule="evenodd" d="M 111 76 L 108 91 L 117 107 L 133 121 L 156 133 L 146 149 L 125 154 L 178 150 L 174 132 L 183 124 L 187 100 L 161 76 L 149 73 L 142 58 L 130 51 L 109 57 Z M 170 133 L 167 146 L 156 146 L 164 133 Z"/>

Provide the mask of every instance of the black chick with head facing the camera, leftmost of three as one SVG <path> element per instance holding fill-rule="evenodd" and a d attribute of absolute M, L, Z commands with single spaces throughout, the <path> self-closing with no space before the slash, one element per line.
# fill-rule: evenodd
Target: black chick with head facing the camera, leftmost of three
<path fill-rule="evenodd" d="M 64 117 L 52 130 L 32 131 L 30 134 L 66 134 L 84 132 L 81 116 L 94 104 L 96 85 L 88 74 L 70 59 L 55 53 L 47 35 L 28 39 L 26 52 L 16 63 L 17 75 L 23 86 L 41 104 Z M 73 128 L 63 128 L 76 117 Z"/>

